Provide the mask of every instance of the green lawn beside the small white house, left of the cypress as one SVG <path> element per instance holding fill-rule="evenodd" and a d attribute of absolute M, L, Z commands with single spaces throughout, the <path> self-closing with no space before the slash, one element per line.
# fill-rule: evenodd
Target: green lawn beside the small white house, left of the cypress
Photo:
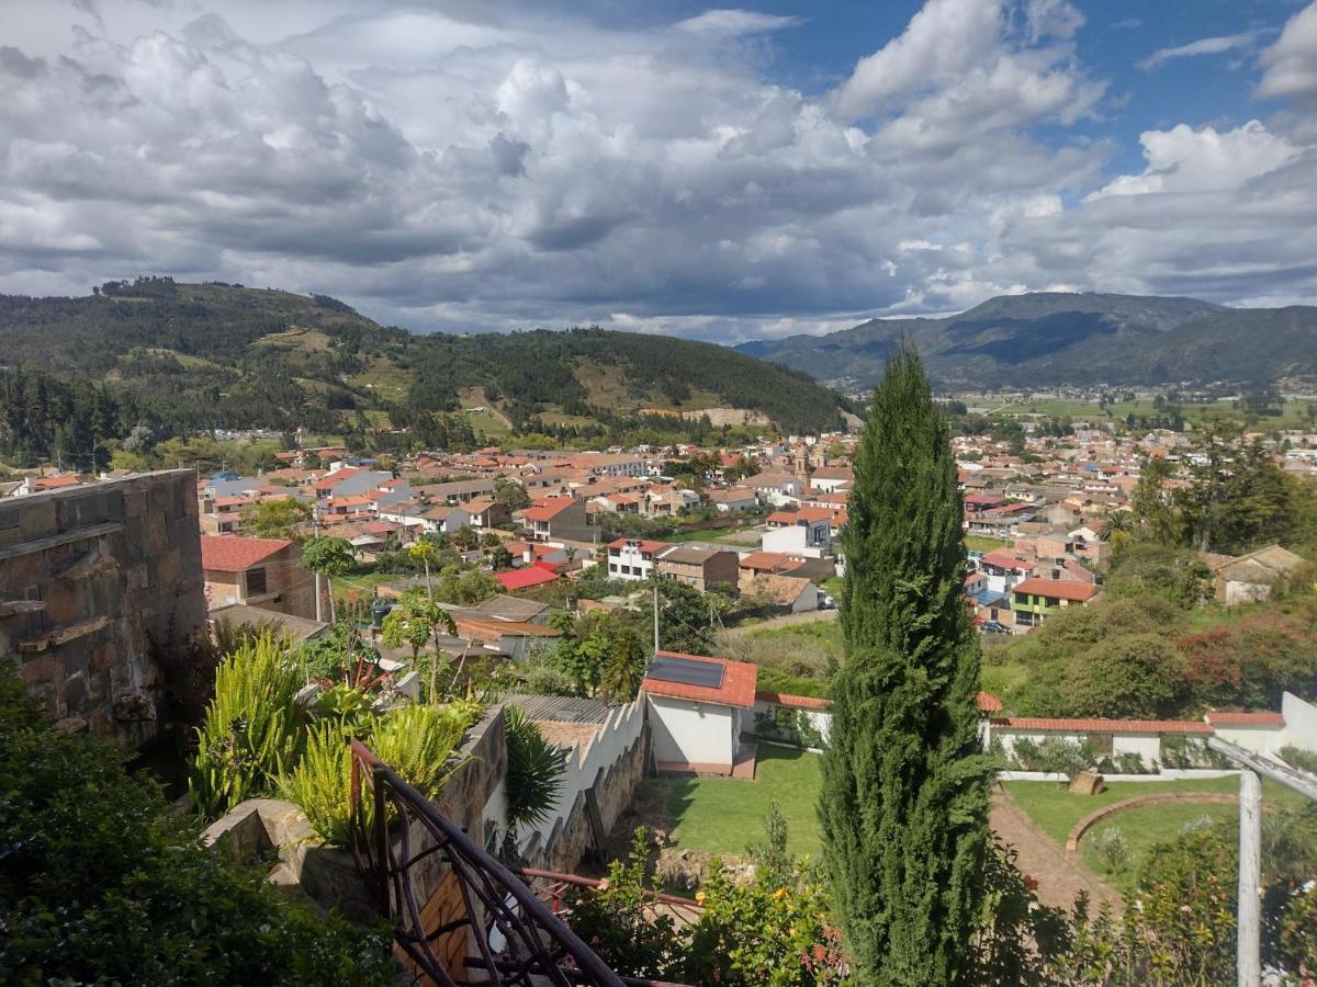
<path fill-rule="evenodd" d="M 735 778 L 673 778 L 648 782 L 668 788 L 668 812 L 676 820 L 669 834 L 677 846 L 724 854 L 744 854 L 745 845 L 764 837 L 768 805 L 786 817 L 792 853 L 818 855 L 818 754 L 760 746 L 755 780 Z"/>

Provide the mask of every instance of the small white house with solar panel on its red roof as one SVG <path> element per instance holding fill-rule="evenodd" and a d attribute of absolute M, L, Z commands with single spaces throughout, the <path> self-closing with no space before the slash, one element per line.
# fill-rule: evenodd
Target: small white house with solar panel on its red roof
<path fill-rule="evenodd" d="M 641 683 L 660 771 L 753 776 L 740 736 L 753 726 L 759 669 L 749 662 L 657 651 Z"/>

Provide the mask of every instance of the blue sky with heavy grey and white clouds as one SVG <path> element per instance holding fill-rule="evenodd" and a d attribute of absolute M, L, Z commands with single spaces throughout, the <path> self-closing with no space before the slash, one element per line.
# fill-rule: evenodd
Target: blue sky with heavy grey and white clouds
<path fill-rule="evenodd" d="M 1317 3 L 0 0 L 0 292 L 719 342 L 1317 303 Z"/>

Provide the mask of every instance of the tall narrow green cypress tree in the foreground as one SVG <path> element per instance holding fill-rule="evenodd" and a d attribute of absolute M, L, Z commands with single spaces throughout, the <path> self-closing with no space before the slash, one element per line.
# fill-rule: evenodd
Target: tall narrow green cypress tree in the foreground
<path fill-rule="evenodd" d="M 990 765 L 956 463 L 909 342 L 873 396 L 848 508 L 819 800 L 835 904 L 857 983 L 956 983 L 982 899 Z"/>

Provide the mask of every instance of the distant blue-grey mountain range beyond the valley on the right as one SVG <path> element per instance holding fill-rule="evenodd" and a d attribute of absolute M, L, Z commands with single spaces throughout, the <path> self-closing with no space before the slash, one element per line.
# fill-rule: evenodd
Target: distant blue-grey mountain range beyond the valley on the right
<path fill-rule="evenodd" d="M 874 318 L 736 349 L 831 387 L 871 387 L 905 336 L 947 388 L 1259 383 L 1317 375 L 1317 307 L 1225 308 L 1187 297 L 1005 295 L 944 318 Z"/>

